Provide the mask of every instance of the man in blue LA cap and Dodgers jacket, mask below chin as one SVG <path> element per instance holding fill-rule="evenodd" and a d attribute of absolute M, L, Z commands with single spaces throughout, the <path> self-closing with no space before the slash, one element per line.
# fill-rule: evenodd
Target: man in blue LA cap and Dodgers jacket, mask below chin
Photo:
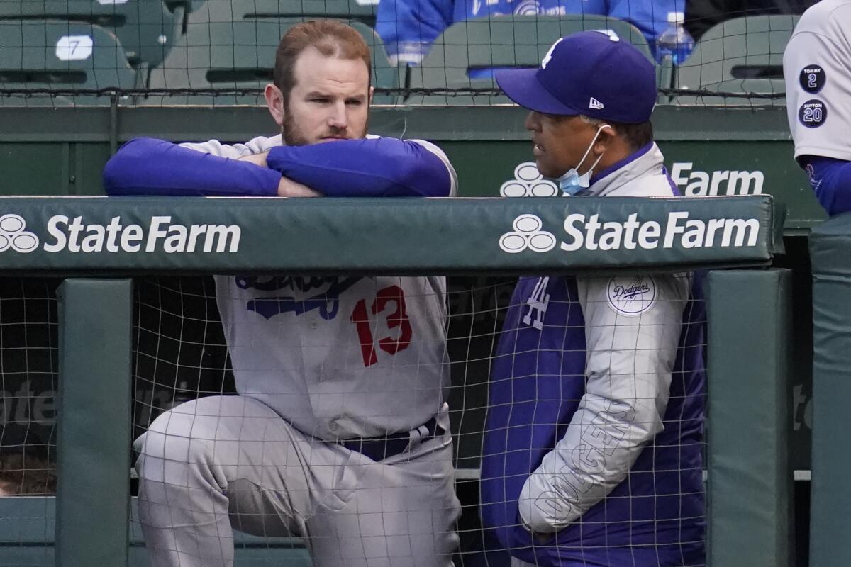
<path fill-rule="evenodd" d="M 530 110 L 540 173 L 569 195 L 677 194 L 649 122 L 654 67 L 631 45 L 585 31 L 496 80 Z M 704 326 L 691 273 L 518 281 L 481 485 L 483 524 L 512 564 L 705 563 Z"/>

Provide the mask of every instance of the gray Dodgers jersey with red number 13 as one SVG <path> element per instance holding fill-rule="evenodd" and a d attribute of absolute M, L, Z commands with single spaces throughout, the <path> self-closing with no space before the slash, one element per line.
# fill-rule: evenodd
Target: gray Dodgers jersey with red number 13
<path fill-rule="evenodd" d="M 446 164 L 454 196 L 456 176 L 443 151 L 414 141 Z M 237 158 L 281 144 L 278 135 L 184 146 Z M 237 391 L 300 431 L 327 440 L 397 433 L 443 405 L 442 277 L 219 275 L 215 282 Z"/>

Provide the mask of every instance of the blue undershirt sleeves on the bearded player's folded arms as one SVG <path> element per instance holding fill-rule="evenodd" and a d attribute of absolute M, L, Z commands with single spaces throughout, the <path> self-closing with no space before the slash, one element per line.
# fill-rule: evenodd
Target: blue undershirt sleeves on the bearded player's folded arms
<path fill-rule="evenodd" d="M 276 196 L 281 175 L 326 196 L 448 196 L 443 161 L 415 142 L 340 140 L 270 151 L 269 167 L 159 139 L 131 140 L 106 164 L 108 195 Z"/>

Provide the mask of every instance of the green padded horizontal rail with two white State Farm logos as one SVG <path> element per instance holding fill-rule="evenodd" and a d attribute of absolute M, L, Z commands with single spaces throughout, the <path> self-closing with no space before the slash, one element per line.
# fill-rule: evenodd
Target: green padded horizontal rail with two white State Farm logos
<path fill-rule="evenodd" d="M 7 273 L 659 271 L 765 265 L 783 247 L 771 196 L 11 197 L 0 211 Z"/>

